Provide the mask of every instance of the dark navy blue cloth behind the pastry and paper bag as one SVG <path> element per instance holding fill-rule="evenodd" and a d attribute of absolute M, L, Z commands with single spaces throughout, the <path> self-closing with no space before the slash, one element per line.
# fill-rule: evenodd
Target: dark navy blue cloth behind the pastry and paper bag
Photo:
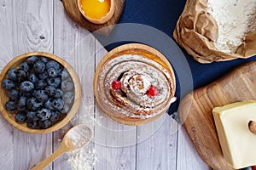
<path fill-rule="evenodd" d="M 171 105 L 168 111 L 169 115 L 177 112 L 180 100 L 193 89 L 207 85 L 242 63 L 256 60 L 256 56 L 254 56 L 250 59 L 200 64 L 187 54 L 183 48 L 177 48 L 172 33 L 179 15 L 183 12 L 185 3 L 185 0 L 126 0 L 123 14 L 119 19 L 120 26 L 116 26 L 108 37 L 96 34 L 96 38 L 102 42 L 102 45 L 108 51 L 127 42 L 140 42 L 140 38 L 144 36 L 143 42 L 150 42 L 148 45 L 157 48 L 166 55 L 166 58 L 174 66 L 177 76 L 177 102 Z M 132 33 L 138 37 L 138 40 L 135 37 L 127 38 L 126 41 L 120 38 L 131 37 Z M 169 48 L 169 50 L 165 51 L 166 48 Z M 179 59 L 179 57 L 180 60 L 174 59 Z M 183 63 L 185 66 L 182 65 Z M 189 71 L 187 71 L 187 67 L 189 67 Z M 183 73 L 181 73 L 182 71 Z M 184 81 L 186 81 L 186 76 L 189 76 L 189 74 L 192 82 L 186 83 Z"/>

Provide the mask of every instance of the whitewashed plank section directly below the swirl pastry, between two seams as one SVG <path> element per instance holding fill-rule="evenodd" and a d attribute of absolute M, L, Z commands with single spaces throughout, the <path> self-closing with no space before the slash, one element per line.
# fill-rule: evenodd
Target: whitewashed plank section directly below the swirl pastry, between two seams
<path fill-rule="evenodd" d="M 177 133 L 171 133 L 172 123 L 171 116 L 165 114 L 137 127 L 137 169 L 176 169 Z"/>

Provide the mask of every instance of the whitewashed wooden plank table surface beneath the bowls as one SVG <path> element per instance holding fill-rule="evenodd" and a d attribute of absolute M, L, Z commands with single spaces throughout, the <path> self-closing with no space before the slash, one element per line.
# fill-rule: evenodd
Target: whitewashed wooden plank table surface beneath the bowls
<path fill-rule="evenodd" d="M 129 127 L 102 114 L 93 96 L 92 77 L 107 51 L 67 17 L 61 1 L 0 0 L 0 70 L 15 56 L 32 51 L 55 54 L 73 65 L 81 79 L 83 105 L 72 123 L 47 134 L 21 132 L 0 115 L 0 169 L 30 169 L 57 149 L 69 127 L 81 122 L 94 128 L 90 149 L 95 150 L 96 170 L 209 169 L 170 116 Z M 46 169 L 72 169 L 68 157 L 61 156 Z"/>

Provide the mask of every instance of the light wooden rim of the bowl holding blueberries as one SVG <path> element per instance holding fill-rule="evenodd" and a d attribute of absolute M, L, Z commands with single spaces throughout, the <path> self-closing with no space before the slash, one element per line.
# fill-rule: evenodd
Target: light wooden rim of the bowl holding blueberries
<path fill-rule="evenodd" d="M 46 128 L 46 129 L 32 129 L 29 127 L 24 126 L 26 123 L 17 123 L 13 118 L 9 116 L 9 112 L 5 110 L 3 105 L 3 99 L 0 98 L 0 112 L 2 113 L 3 117 L 14 127 L 20 129 L 23 132 L 26 133 L 50 133 L 54 132 L 61 127 L 65 126 L 72 118 L 75 116 L 77 111 L 79 110 L 79 105 L 81 104 L 81 84 L 79 77 L 77 76 L 77 73 L 73 70 L 73 67 L 67 63 L 64 59 L 61 59 L 57 57 L 54 54 L 49 54 L 45 52 L 31 52 L 26 54 L 20 54 L 19 56 L 15 57 L 14 59 L 10 60 L 7 65 L 4 66 L 3 71 L 0 74 L 0 82 L 3 81 L 3 79 L 6 77 L 7 71 L 9 71 L 10 68 L 12 68 L 13 65 L 15 65 L 17 62 L 19 62 L 21 59 L 26 59 L 29 56 L 44 56 L 49 59 L 53 59 L 57 61 L 59 64 L 61 64 L 70 74 L 72 77 L 73 83 L 74 83 L 74 102 L 73 106 L 70 108 L 70 111 L 67 113 L 67 116 L 65 116 L 60 122 L 55 123 L 52 127 Z M 79 82 L 79 83 L 78 83 Z M 5 90 L 2 88 L 2 83 L 0 83 L 0 89 Z M 5 95 L 5 94 L 4 94 Z"/>

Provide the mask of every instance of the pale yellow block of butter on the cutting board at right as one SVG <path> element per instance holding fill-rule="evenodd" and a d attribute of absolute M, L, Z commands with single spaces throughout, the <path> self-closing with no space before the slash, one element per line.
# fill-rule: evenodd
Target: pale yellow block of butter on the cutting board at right
<path fill-rule="evenodd" d="M 235 169 L 256 165 L 256 134 L 248 127 L 256 121 L 256 101 L 216 107 L 212 113 L 225 160 Z"/>

